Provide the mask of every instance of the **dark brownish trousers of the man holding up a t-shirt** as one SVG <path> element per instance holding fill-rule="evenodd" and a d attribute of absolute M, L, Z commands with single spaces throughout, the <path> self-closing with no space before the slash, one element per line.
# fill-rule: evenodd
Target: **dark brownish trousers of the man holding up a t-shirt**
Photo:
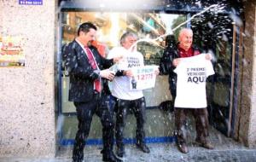
<path fill-rule="evenodd" d="M 180 108 L 175 107 L 175 126 L 177 142 L 186 142 L 185 123 L 189 112 L 195 118 L 196 141 L 205 142 L 208 136 L 208 113 L 207 108 Z"/>

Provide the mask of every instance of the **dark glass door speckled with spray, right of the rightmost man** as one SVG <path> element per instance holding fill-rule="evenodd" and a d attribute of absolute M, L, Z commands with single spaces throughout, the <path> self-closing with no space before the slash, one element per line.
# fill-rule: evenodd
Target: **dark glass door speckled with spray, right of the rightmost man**
<path fill-rule="evenodd" d="M 236 30 L 233 21 L 224 14 L 204 14 L 191 20 L 191 27 L 195 35 L 194 43 L 214 56 L 215 75 L 207 79 L 210 123 L 230 136 L 236 89 Z"/>

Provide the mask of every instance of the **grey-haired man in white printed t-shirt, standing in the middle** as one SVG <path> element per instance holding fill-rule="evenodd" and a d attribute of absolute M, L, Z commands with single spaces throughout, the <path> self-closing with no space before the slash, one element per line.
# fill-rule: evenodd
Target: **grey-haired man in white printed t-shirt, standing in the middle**
<path fill-rule="evenodd" d="M 133 32 L 125 32 L 120 38 L 121 47 L 115 47 L 109 51 L 108 59 L 113 58 L 116 55 L 123 55 L 128 61 L 120 62 L 117 66 L 117 72 L 115 78 L 112 81 L 112 87 L 110 87 L 111 93 L 116 101 L 116 144 L 117 155 L 123 157 L 125 155 L 125 145 L 123 142 L 123 133 L 125 127 L 125 119 L 129 110 L 131 110 L 137 119 L 136 130 L 136 145 L 144 153 L 149 153 L 150 150 L 145 144 L 145 131 L 143 129 L 145 123 L 145 98 L 143 96 L 143 90 L 131 90 L 130 78 L 133 76 L 132 71 L 124 69 L 127 66 L 141 67 L 144 65 L 143 55 L 136 49 L 131 49 L 133 43 L 137 41 L 137 35 Z M 119 68 L 122 67 L 122 70 Z"/>

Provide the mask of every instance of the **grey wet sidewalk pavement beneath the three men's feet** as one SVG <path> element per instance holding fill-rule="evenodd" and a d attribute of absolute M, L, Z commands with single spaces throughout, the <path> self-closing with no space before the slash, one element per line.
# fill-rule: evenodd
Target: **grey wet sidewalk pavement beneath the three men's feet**
<path fill-rule="evenodd" d="M 125 145 L 124 162 L 256 162 L 256 148 L 246 148 L 241 143 L 227 138 L 217 130 L 211 130 L 210 141 L 215 146 L 207 150 L 197 146 L 190 138 L 189 153 L 180 153 L 175 143 L 149 143 L 150 153 L 143 153 L 134 144 Z M 73 146 L 61 147 L 54 159 L 46 158 L 0 158 L 1 162 L 71 162 Z M 84 148 L 84 162 L 101 162 L 102 146 Z"/>

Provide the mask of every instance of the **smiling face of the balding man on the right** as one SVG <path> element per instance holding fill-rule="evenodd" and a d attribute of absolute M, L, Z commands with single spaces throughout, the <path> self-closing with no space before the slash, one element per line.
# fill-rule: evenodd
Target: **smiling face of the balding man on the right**
<path fill-rule="evenodd" d="M 183 29 L 178 36 L 179 46 L 188 50 L 193 42 L 193 32 L 190 29 Z"/>

